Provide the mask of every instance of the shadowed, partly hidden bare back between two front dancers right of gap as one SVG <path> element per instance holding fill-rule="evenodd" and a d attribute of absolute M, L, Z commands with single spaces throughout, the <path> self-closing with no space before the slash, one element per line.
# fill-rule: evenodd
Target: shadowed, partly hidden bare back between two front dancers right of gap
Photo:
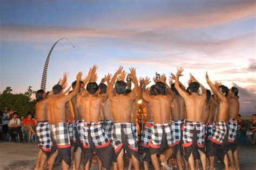
<path fill-rule="evenodd" d="M 174 107 L 172 110 L 172 120 L 178 121 L 186 118 L 186 106 L 183 98 L 180 95 L 175 95 L 172 103 Z"/>

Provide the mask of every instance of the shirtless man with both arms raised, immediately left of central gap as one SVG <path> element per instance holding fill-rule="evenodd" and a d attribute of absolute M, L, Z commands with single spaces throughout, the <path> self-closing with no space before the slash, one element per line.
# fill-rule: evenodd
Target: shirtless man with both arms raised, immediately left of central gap
<path fill-rule="evenodd" d="M 118 169 L 124 169 L 123 148 L 125 148 L 129 158 L 132 158 L 134 169 L 139 169 L 138 145 L 134 138 L 131 124 L 132 103 L 134 98 L 138 95 L 138 80 L 136 70 L 133 68 L 130 69 L 130 76 L 134 83 L 134 88 L 131 93 L 125 95 L 126 83 L 124 81 L 116 82 L 117 75 L 122 72 L 122 69 L 123 67 L 120 67 L 117 70 L 107 88 L 107 94 L 110 98 L 114 117 L 112 147 L 114 147 L 114 152 L 117 154 Z M 115 91 L 113 91 L 114 82 L 116 82 Z"/>

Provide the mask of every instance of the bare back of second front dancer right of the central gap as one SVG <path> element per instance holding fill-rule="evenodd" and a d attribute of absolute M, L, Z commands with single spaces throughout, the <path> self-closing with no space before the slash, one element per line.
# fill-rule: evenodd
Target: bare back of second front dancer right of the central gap
<path fill-rule="evenodd" d="M 205 97 L 193 94 L 184 98 L 186 105 L 186 120 L 192 122 L 203 122 L 203 110 L 205 104 Z"/>

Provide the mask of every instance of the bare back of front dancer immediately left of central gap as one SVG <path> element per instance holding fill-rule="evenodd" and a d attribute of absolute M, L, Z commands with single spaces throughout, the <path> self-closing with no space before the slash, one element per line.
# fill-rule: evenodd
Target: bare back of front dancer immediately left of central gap
<path fill-rule="evenodd" d="M 115 123 L 131 122 L 133 99 L 134 97 L 130 97 L 129 95 L 116 95 L 110 97 Z"/>

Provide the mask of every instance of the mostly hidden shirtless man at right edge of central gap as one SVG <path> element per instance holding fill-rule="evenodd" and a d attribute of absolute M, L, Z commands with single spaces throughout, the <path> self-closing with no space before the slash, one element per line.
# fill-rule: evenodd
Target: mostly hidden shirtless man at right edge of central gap
<path fill-rule="evenodd" d="M 148 77 L 145 78 L 146 81 L 149 81 Z M 144 80 L 143 80 L 143 86 L 144 85 Z M 143 87 L 142 87 L 143 88 Z M 146 90 L 146 95 L 151 95 L 151 96 L 155 96 L 156 95 L 156 91 L 154 91 L 154 85 L 152 85 L 150 87 L 149 90 Z M 151 105 L 149 102 L 146 102 L 143 99 L 143 103 L 145 104 L 146 107 L 146 123 L 145 123 L 145 130 L 143 131 L 143 135 L 142 135 L 142 147 L 143 147 L 143 151 L 142 151 L 142 157 L 143 157 L 143 166 L 144 169 L 147 170 L 149 169 L 149 163 L 151 162 L 151 158 L 150 158 L 150 152 L 149 152 L 149 142 L 151 140 L 151 136 L 152 136 L 152 132 L 153 132 L 153 112 L 151 109 Z"/>

